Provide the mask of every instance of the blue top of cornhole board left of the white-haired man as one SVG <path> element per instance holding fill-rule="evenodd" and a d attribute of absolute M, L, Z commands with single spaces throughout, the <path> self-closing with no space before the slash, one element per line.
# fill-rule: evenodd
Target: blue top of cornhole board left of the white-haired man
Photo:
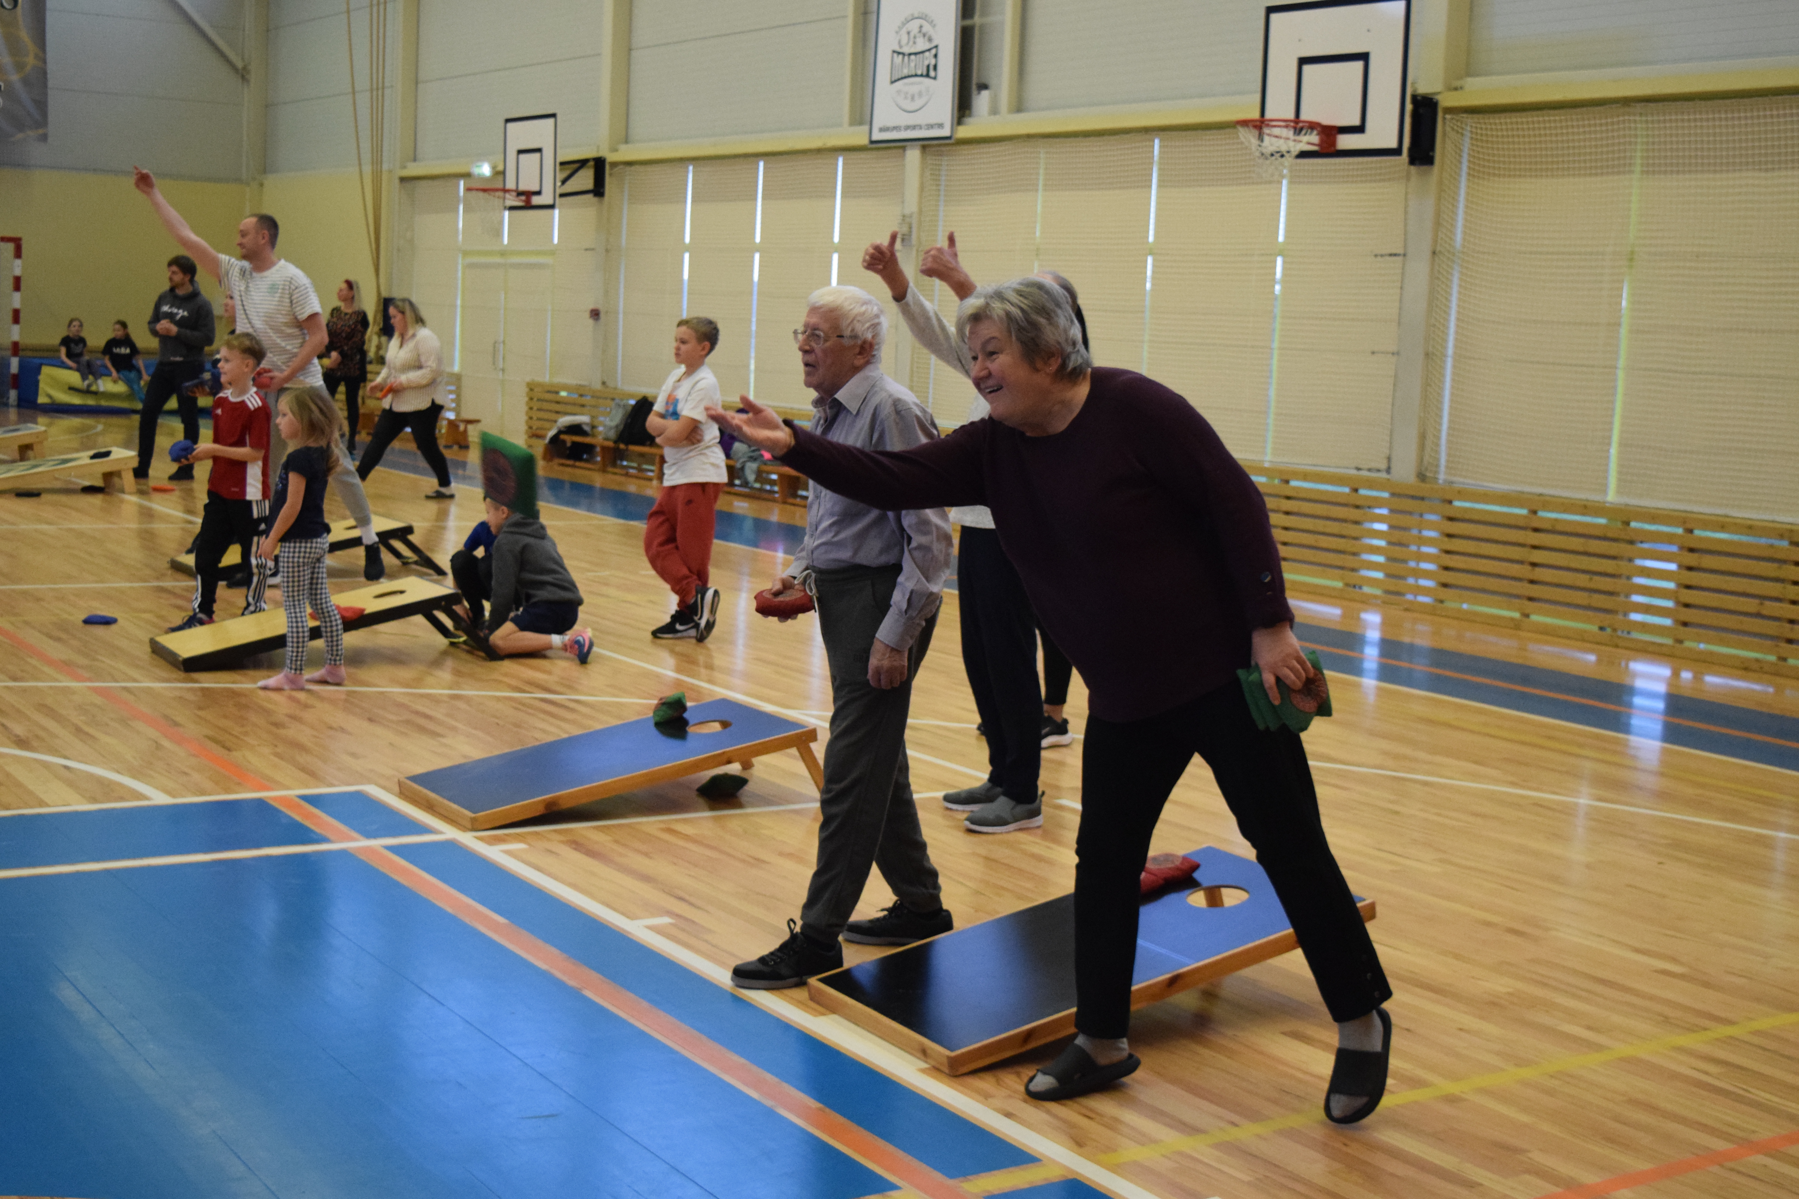
<path fill-rule="evenodd" d="M 730 728 L 666 737 L 657 732 L 649 717 L 640 717 L 459 766 L 428 769 L 408 777 L 407 782 L 466 813 L 482 814 L 810 728 L 736 699 L 696 703 L 687 708 L 687 721 L 693 724 L 730 721 Z"/>

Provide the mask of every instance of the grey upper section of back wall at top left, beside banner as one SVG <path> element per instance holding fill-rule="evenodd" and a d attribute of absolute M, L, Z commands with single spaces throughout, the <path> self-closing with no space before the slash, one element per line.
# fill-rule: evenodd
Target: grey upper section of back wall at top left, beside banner
<path fill-rule="evenodd" d="M 241 0 L 196 5 L 241 43 Z M 45 23 L 50 140 L 0 146 L 0 164 L 243 178 L 243 83 L 173 4 L 56 4 Z"/>

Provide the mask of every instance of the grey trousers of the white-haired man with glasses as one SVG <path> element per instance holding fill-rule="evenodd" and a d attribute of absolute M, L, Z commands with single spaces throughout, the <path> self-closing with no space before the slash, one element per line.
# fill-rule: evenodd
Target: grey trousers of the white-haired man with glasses
<path fill-rule="evenodd" d="M 871 866 L 880 866 L 908 908 L 934 911 L 943 904 L 905 757 L 912 679 L 930 649 L 935 615 L 907 654 L 905 683 L 892 690 L 869 685 L 869 649 L 898 581 L 900 566 L 815 572 L 819 629 L 831 663 L 831 741 L 824 746 L 819 865 L 801 908 L 801 931 L 819 942 L 842 935 Z"/>

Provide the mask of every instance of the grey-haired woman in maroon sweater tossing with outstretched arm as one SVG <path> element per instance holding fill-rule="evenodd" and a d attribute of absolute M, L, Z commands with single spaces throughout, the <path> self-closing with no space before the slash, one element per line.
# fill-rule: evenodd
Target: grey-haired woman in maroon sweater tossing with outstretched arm
<path fill-rule="evenodd" d="M 982 288 L 957 331 L 993 415 L 898 453 L 709 410 L 824 487 L 887 509 L 984 503 L 1043 626 L 1088 687 L 1074 870 L 1078 1037 L 1025 1084 L 1070 1098 L 1132 1073 L 1137 875 L 1162 805 L 1198 753 L 1268 874 L 1337 1021 L 1326 1115 L 1353 1124 L 1387 1080 L 1391 998 L 1331 856 L 1299 735 L 1261 732 L 1236 671 L 1311 672 L 1293 636 L 1268 509 L 1193 404 L 1132 370 L 1094 369 L 1065 293 L 1038 279 Z M 1180 613 L 1177 636 L 1119 620 L 1119 597 Z"/>

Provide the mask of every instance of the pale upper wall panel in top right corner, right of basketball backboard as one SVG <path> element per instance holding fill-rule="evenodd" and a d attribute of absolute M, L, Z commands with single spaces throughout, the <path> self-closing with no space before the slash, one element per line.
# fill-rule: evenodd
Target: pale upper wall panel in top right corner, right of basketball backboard
<path fill-rule="evenodd" d="M 1473 0 L 1468 11 L 1470 75 L 1795 54 L 1794 0 Z"/>

